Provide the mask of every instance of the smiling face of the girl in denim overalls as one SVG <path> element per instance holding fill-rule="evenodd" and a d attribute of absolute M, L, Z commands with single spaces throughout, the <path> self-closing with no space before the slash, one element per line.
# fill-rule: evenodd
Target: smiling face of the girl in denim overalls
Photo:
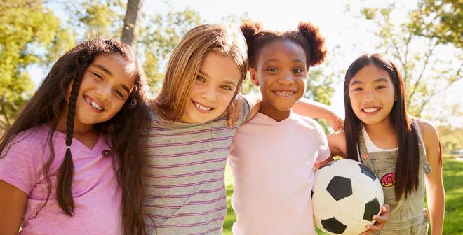
<path fill-rule="evenodd" d="M 394 97 L 389 73 L 373 63 L 364 66 L 349 83 L 352 110 L 364 124 L 389 121 Z"/>

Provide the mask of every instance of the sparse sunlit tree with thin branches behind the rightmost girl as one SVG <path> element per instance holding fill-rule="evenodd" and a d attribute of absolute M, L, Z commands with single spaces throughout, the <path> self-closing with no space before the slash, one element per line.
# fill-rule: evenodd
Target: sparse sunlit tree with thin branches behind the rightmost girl
<path fill-rule="evenodd" d="M 426 14 L 435 15 L 432 10 L 428 13 L 420 12 L 426 3 L 429 1 L 420 1 L 419 8 L 412 10 L 408 21 L 401 24 L 393 23 L 391 14 L 396 10 L 394 4 L 385 8 L 361 10 L 362 17 L 372 21 L 375 29 L 378 29 L 374 31 L 381 39 L 377 49 L 391 55 L 400 67 L 405 82 L 408 111 L 418 117 L 422 116 L 422 111 L 432 98 L 462 79 L 463 66 L 462 49 L 458 48 L 461 43 L 459 31 L 458 37 L 451 36 L 452 33 L 446 36 L 438 27 L 431 29 L 422 25 L 423 20 L 427 21 Z M 452 10 L 459 12 L 459 9 L 450 9 Z M 459 15 L 461 17 L 461 13 Z M 443 16 L 436 15 L 434 21 L 443 19 Z M 448 27 L 453 29 L 461 21 L 448 23 Z M 445 50 L 453 55 L 441 56 Z"/>

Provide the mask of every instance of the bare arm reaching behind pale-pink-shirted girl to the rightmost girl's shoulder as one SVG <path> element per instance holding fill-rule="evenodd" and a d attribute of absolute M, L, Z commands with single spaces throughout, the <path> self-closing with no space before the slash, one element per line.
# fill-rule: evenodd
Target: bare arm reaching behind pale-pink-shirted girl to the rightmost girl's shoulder
<path fill-rule="evenodd" d="M 330 109 L 330 106 L 318 103 L 311 99 L 302 97 L 293 106 L 293 111 L 299 115 L 307 116 L 310 118 L 323 118 L 328 121 L 331 128 L 335 131 L 340 131 L 344 124 L 344 120 L 340 118 L 334 111 Z"/>

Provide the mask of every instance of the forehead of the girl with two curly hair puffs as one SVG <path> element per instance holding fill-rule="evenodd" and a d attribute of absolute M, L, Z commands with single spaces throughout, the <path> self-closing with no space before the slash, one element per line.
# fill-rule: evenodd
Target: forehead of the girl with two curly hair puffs
<path fill-rule="evenodd" d="M 281 39 L 264 45 L 260 50 L 259 60 L 263 62 L 269 59 L 300 59 L 305 63 L 306 55 L 304 48 L 299 44 L 288 39 Z"/>

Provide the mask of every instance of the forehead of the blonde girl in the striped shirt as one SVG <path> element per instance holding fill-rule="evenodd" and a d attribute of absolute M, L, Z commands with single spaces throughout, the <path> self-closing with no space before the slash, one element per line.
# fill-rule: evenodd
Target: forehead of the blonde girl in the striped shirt
<path fill-rule="evenodd" d="M 241 79 L 241 72 L 235 59 L 231 56 L 220 55 L 215 51 L 206 53 L 199 70 L 217 81 L 228 80 L 238 83 Z"/>

